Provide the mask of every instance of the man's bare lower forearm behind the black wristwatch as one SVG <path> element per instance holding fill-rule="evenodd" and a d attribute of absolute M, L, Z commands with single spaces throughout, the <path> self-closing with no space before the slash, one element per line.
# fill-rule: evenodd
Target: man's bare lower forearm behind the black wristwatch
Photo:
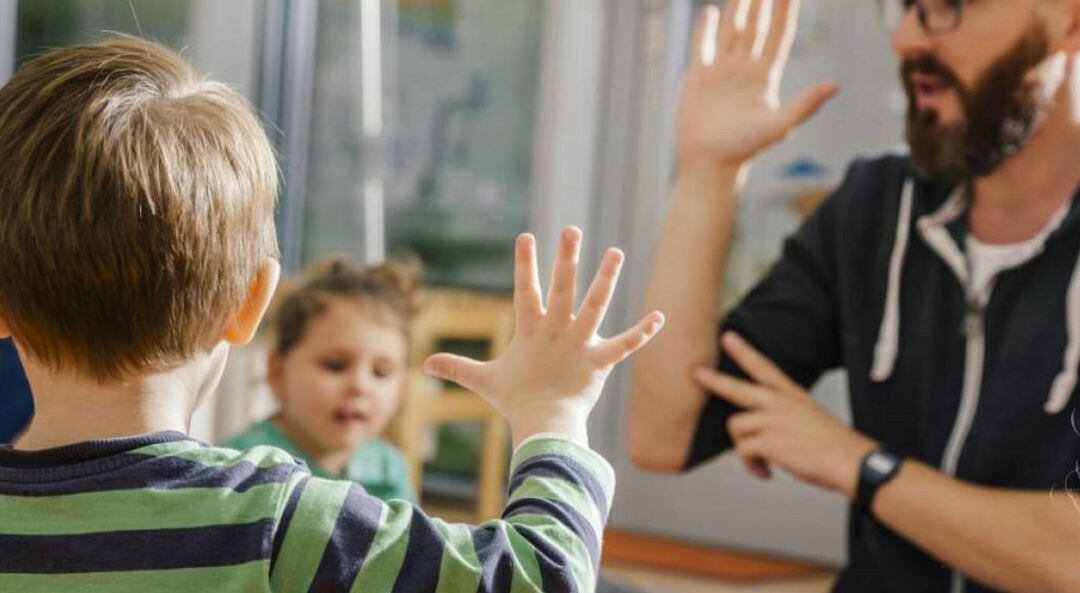
<path fill-rule="evenodd" d="M 1068 493 L 987 488 L 907 461 L 878 493 L 874 514 L 995 589 L 1080 591 L 1080 511 Z"/>

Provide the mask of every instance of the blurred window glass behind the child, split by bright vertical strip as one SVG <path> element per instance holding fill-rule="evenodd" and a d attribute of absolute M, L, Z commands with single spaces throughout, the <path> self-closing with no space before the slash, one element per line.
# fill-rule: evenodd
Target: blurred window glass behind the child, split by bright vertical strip
<path fill-rule="evenodd" d="M 383 6 L 388 253 L 434 284 L 505 289 L 525 229 L 542 2 Z M 362 253 L 361 3 L 320 3 L 305 258 Z M 368 147 L 369 149 L 369 147 Z M 370 165 L 370 163 L 367 163 Z"/>

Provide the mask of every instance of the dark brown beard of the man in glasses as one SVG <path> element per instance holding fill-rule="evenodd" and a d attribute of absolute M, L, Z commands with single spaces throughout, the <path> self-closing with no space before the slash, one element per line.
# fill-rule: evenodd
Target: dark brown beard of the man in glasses
<path fill-rule="evenodd" d="M 906 136 L 916 169 L 930 177 L 966 180 L 990 173 L 1024 148 L 1047 110 L 1039 83 L 1027 75 L 1049 53 L 1045 31 L 1032 27 L 990 65 L 974 90 L 929 54 L 905 60 L 901 77 L 908 96 Z M 942 124 L 936 109 L 919 109 L 912 82 L 915 73 L 939 77 L 954 89 L 962 121 Z"/>

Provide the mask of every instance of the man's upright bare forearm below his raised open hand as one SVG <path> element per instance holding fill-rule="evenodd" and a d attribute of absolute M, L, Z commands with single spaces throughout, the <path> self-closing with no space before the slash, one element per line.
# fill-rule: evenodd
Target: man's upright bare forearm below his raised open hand
<path fill-rule="evenodd" d="M 716 321 L 724 264 L 741 174 L 702 166 L 675 184 L 642 307 L 667 324 L 634 363 L 631 456 L 647 469 L 674 471 L 689 448 L 704 392 L 691 369 L 716 361 Z"/>

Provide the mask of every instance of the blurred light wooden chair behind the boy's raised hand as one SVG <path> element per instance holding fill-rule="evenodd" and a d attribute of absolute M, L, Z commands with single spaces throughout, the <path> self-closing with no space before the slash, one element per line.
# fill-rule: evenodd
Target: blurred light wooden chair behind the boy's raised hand
<path fill-rule="evenodd" d="M 510 297 L 433 291 L 413 324 L 413 367 L 396 420 L 395 440 L 419 493 L 423 481 L 423 444 L 430 431 L 445 422 L 482 422 L 477 522 L 497 517 L 502 510 L 509 436 L 505 421 L 480 395 L 428 377 L 420 367 L 424 359 L 447 341 L 481 341 L 488 346 L 489 358 L 497 356 L 510 341 L 513 320 Z"/>

